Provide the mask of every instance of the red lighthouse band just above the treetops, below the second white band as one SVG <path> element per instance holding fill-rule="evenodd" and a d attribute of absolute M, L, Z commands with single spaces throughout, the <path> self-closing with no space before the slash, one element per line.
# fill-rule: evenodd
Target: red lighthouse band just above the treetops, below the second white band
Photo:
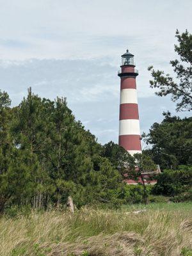
<path fill-rule="evenodd" d="M 141 150 L 140 135 L 120 135 L 118 136 L 118 145 L 125 150 Z"/>

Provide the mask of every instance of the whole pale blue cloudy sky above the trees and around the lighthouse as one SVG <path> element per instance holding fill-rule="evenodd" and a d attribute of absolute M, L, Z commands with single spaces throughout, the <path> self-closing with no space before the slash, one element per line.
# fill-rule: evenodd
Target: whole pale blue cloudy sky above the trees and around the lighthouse
<path fill-rule="evenodd" d="M 147 67 L 173 74 L 175 31 L 192 30 L 191 0 L 0 0 L 0 89 L 16 106 L 32 87 L 67 97 L 77 120 L 99 143 L 118 141 L 121 55 L 134 54 L 141 132 L 175 115 L 157 97 Z M 176 113 L 184 117 L 189 113 Z"/>

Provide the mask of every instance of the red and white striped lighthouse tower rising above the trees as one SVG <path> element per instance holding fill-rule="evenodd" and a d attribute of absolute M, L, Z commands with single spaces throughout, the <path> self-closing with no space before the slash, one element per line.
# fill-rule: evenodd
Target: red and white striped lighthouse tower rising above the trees
<path fill-rule="evenodd" d="M 138 97 L 136 91 L 136 76 L 134 55 L 128 50 L 122 55 L 120 88 L 120 117 L 118 144 L 132 156 L 141 153 L 140 120 L 138 113 Z"/>

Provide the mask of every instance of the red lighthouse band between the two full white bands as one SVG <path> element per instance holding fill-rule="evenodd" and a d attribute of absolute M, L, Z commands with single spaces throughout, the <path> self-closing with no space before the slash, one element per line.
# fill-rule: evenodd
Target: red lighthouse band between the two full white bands
<path fill-rule="evenodd" d="M 125 103 L 120 104 L 119 120 L 124 119 L 139 119 L 138 104 Z"/>

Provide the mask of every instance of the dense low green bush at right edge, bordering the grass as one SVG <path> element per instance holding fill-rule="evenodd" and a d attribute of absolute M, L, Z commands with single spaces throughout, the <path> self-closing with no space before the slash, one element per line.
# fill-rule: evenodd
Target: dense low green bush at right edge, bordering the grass
<path fill-rule="evenodd" d="M 189 191 L 192 184 L 192 166 L 180 166 L 179 170 L 164 170 L 156 177 L 152 193 L 176 196 Z M 190 196 L 189 196 L 190 198 Z"/>

